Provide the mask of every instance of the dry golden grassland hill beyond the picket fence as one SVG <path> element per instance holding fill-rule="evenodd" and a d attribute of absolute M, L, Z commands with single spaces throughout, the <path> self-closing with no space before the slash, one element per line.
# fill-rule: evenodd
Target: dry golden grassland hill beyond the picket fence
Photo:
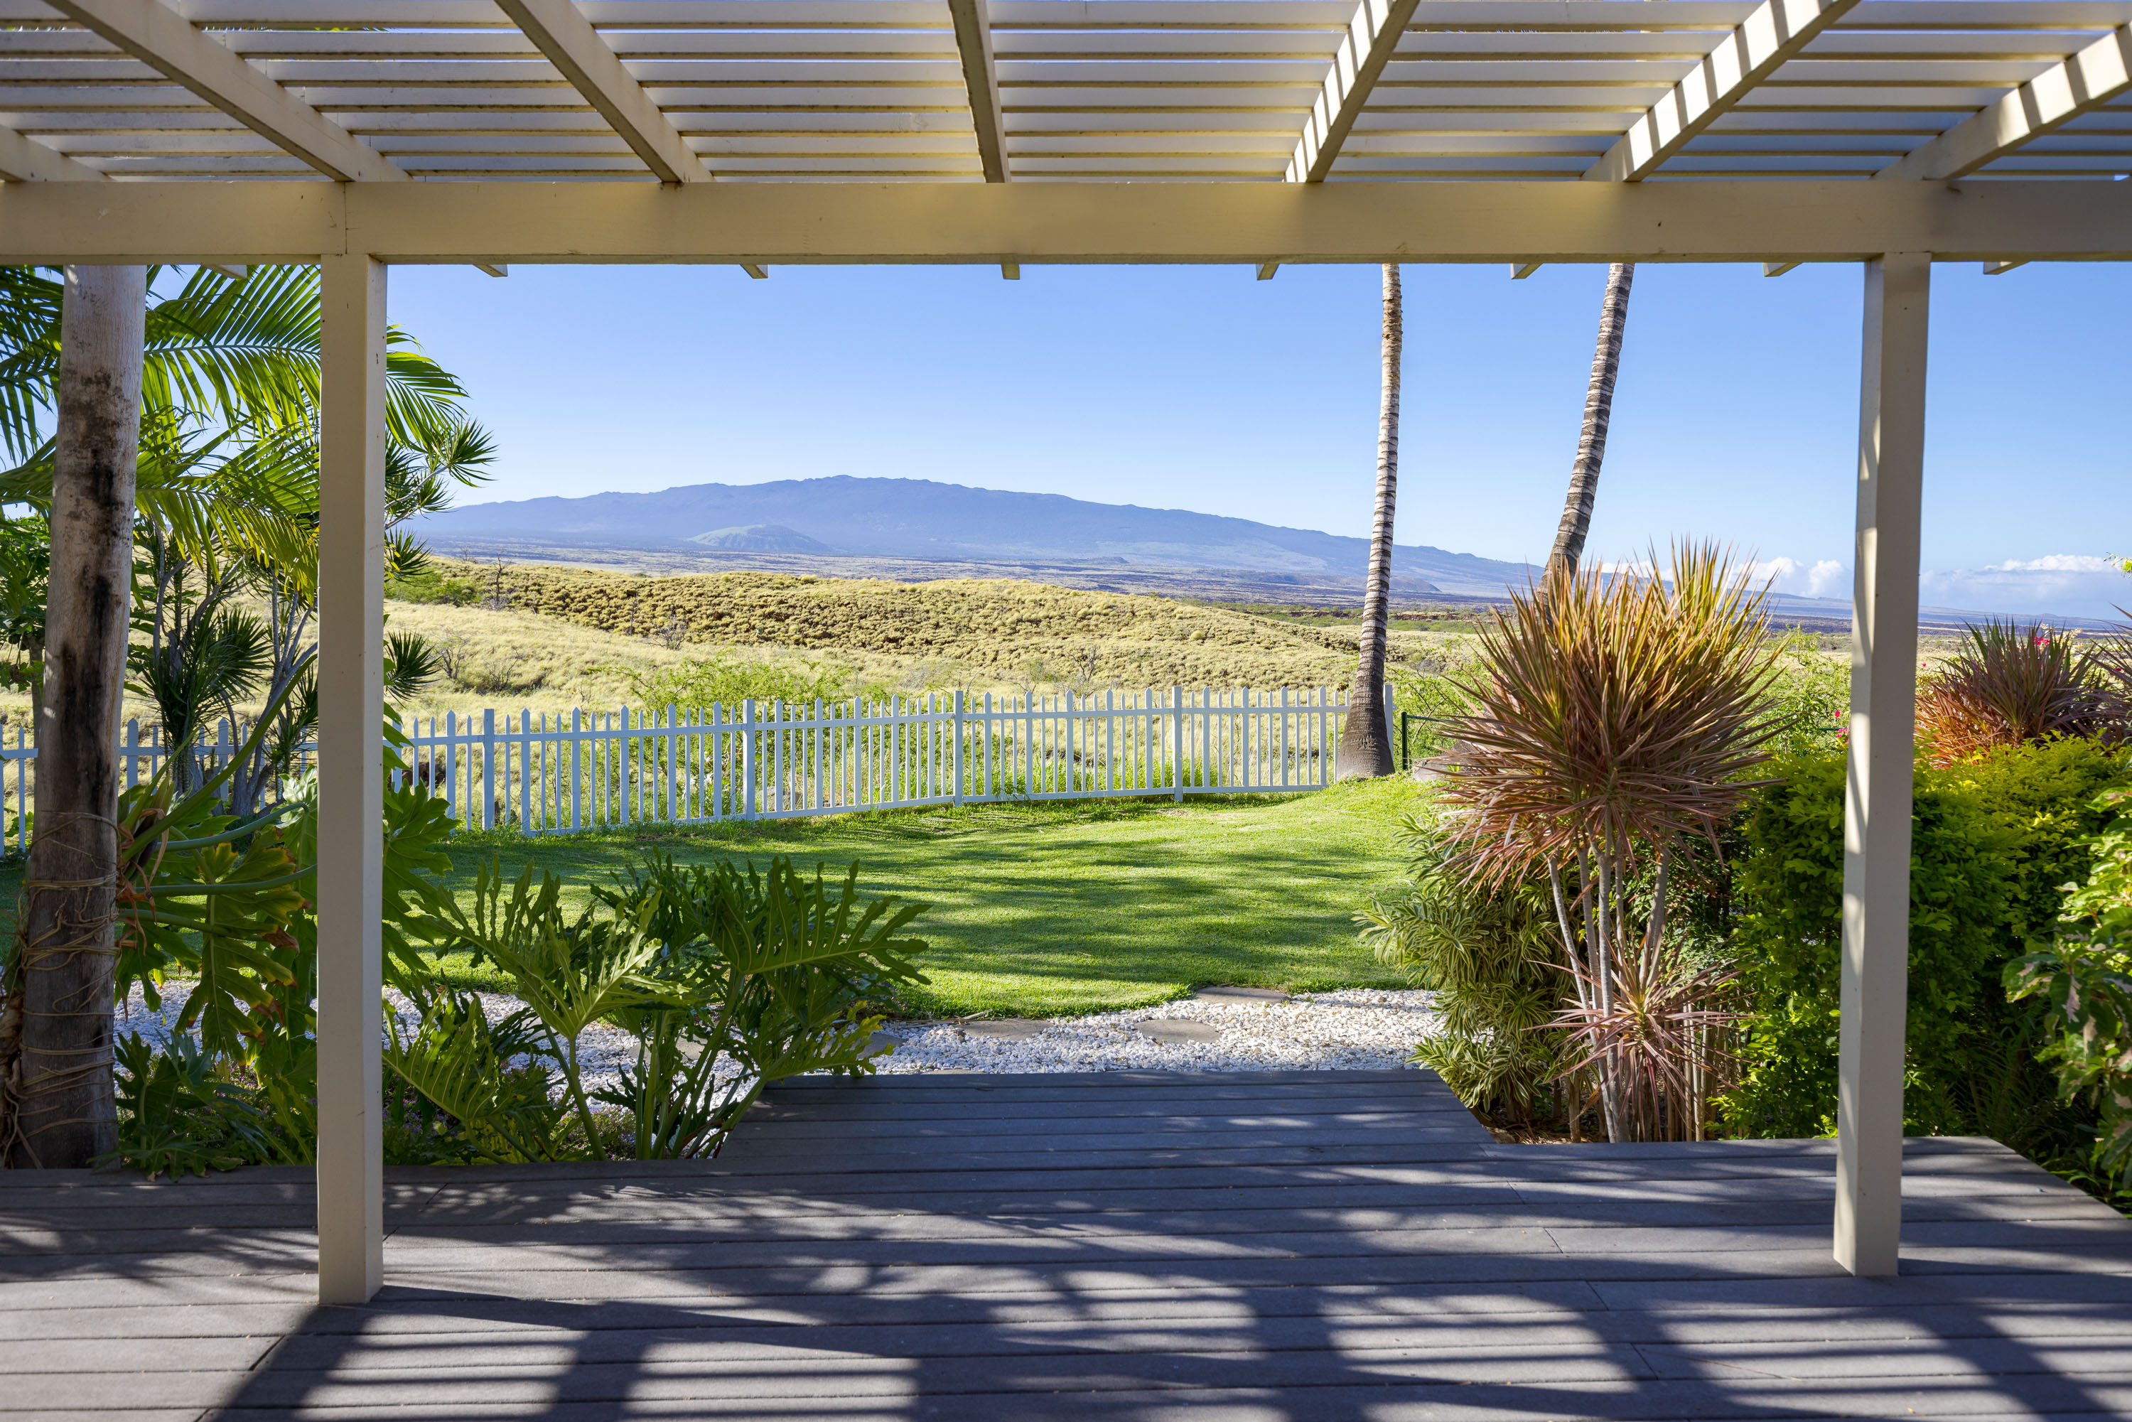
<path fill-rule="evenodd" d="M 742 571 L 644 578 L 554 565 L 439 563 L 448 576 L 484 591 L 501 580 L 512 612 L 631 637 L 932 663 L 936 680 L 972 686 L 1275 689 L 1343 684 L 1354 672 L 1354 633 L 1341 627 L 1038 582 Z"/>

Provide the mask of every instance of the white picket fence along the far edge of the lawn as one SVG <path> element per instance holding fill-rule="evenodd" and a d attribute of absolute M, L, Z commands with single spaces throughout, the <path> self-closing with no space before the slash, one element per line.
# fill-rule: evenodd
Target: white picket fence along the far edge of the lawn
<path fill-rule="evenodd" d="M 1396 716 L 1386 704 L 1388 721 Z M 1313 791 L 1332 780 L 1341 691 L 930 693 L 887 701 L 742 701 L 665 708 L 446 714 L 409 727 L 399 772 L 475 829 L 571 834 L 898 806 L 1128 795 Z M 196 746 L 220 767 L 228 723 Z M 305 746 L 305 761 L 313 746 Z M 128 723 L 128 785 L 168 748 Z M 36 746 L 0 746 L 0 846 L 26 842 Z"/>

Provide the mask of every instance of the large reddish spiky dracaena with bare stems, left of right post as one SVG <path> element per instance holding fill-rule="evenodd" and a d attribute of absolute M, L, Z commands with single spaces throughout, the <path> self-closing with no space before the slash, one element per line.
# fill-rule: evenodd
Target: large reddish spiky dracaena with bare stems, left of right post
<path fill-rule="evenodd" d="M 1667 940 L 1665 895 L 1682 851 L 1716 853 L 1780 729 L 1767 588 L 1746 573 L 1712 546 L 1676 546 L 1669 576 L 1550 573 L 1495 614 L 1465 678 L 1454 863 L 1550 885 L 1578 998 L 1554 1025 L 1599 1072 L 1616 1141 L 1697 1134 L 1691 1087 L 1723 1072 L 1727 979 Z"/>

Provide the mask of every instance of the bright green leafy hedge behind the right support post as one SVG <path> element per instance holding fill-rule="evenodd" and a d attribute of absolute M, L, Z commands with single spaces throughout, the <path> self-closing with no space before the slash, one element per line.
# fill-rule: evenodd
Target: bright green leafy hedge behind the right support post
<path fill-rule="evenodd" d="M 1733 949 L 1761 1013 L 1727 1128 L 1814 1136 L 1836 1128 L 1838 925 L 1844 891 L 1844 759 L 1770 770 L 1742 817 Z M 2079 1136 L 2034 1060 L 2034 1008 L 2008 1004 L 2004 966 L 2051 940 L 2064 889 L 2087 878 L 2081 842 L 2098 791 L 2128 782 L 2121 753 L 2089 740 L 2017 746 L 1981 763 L 1919 765 L 1910 846 L 1906 1128 L 1991 1134 L 2017 1149 Z"/>

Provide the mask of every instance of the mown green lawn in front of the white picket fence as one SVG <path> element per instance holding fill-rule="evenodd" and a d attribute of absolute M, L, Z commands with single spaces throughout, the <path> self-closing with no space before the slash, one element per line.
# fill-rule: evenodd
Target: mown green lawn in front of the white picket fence
<path fill-rule="evenodd" d="M 1403 872 L 1405 778 L 1313 795 L 1051 802 L 900 810 L 552 840 L 469 838 L 458 885 L 490 855 L 584 885 L 659 849 L 684 861 L 791 855 L 932 908 L 927 1015 L 1043 1017 L 1145 1006 L 1202 983 L 1401 987 L 1356 942 L 1354 912 Z M 0 868 L 13 906 L 19 868 Z M 446 964 L 465 985 L 499 983 Z"/>

